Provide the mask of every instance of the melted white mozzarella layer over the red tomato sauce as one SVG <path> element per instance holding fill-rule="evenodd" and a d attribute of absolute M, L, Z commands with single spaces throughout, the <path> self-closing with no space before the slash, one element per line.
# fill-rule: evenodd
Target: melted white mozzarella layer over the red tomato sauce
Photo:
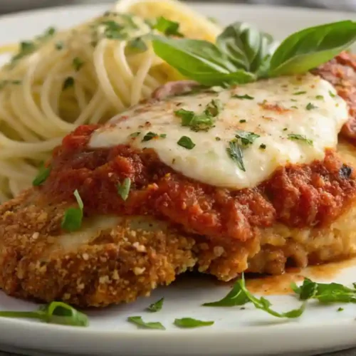
<path fill-rule="evenodd" d="M 174 114 L 179 109 L 202 113 L 213 99 L 219 100 L 222 108 L 215 126 L 207 132 L 182 126 L 182 119 Z M 337 134 L 347 116 L 347 104 L 333 86 L 307 74 L 137 105 L 96 130 L 89 145 L 150 147 L 162 162 L 186 177 L 218 187 L 243 189 L 255 187 L 288 162 L 303 164 L 323 159 L 325 148 L 336 147 Z M 241 145 L 246 171 L 226 151 L 239 130 L 259 135 L 251 145 Z M 132 137 L 134 132 L 140 135 Z M 142 141 L 147 132 L 167 136 Z M 194 142 L 192 150 L 177 145 L 182 136 Z"/>

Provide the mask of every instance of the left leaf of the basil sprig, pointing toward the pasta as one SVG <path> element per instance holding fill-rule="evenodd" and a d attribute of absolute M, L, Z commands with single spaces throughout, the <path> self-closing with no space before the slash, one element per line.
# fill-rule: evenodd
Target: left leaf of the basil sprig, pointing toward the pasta
<path fill-rule="evenodd" d="M 152 46 L 170 66 L 203 85 L 256 80 L 253 73 L 236 68 L 225 53 L 207 41 L 153 36 Z"/>

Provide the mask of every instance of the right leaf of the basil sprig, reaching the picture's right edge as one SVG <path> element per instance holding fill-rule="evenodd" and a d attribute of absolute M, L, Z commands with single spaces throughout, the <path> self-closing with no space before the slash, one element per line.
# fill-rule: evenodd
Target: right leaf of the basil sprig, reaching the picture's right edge
<path fill-rule="evenodd" d="M 273 53 L 269 76 L 305 73 L 330 61 L 356 40 L 356 23 L 340 21 L 288 36 Z"/>

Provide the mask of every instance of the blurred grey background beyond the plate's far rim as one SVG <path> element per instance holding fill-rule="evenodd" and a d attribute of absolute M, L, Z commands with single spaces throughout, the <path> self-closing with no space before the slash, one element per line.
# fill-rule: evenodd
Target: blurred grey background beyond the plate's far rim
<path fill-rule="evenodd" d="M 197 0 L 185 0 L 197 1 Z M 198 0 L 199 1 L 199 0 Z M 14 11 L 38 9 L 48 6 L 65 6 L 70 4 L 100 4 L 110 3 L 110 0 L 0 0 L 0 14 L 8 14 Z M 341 11 L 356 11 L 356 0 L 201 0 L 201 2 L 230 2 L 235 4 L 263 4 L 305 6 Z"/>

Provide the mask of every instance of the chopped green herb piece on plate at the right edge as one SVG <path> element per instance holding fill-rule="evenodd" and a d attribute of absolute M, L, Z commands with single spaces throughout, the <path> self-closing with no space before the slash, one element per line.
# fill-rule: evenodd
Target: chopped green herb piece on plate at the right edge
<path fill-rule="evenodd" d="M 293 288 L 300 300 L 317 299 L 320 303 L 356 303 L 356 288 L 340 283 L 316 283 L 305 278 L 298 289 Z"/>

